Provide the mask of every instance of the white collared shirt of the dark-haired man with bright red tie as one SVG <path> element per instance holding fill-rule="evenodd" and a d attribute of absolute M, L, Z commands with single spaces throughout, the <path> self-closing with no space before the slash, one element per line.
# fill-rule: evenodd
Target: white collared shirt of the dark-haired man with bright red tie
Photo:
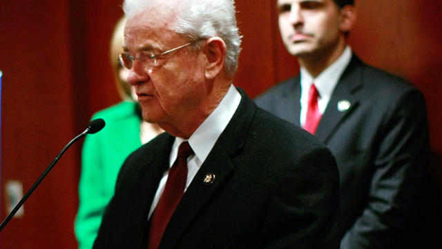
<path fill-rule="evenodd" d="M 318 77 L 313 78 L 305 68 L 300 68 L 301 80 L 301 98 L 300 98 L 300 124 L 304 126 L 305 118 L 307 116 L 309 90 L 312 83 L 315 84 L 320 98 L 318 98 L 318 107 L 321 114 L 324 113 L 329 103 L 332 93 L 338 84 L 338 80 L 343 75 L 345 68 L 347 68 L 352 59 L 352 49 L 347 46 L 342 55 L 336 59 L 333 64 L 325 68 Z"/>

